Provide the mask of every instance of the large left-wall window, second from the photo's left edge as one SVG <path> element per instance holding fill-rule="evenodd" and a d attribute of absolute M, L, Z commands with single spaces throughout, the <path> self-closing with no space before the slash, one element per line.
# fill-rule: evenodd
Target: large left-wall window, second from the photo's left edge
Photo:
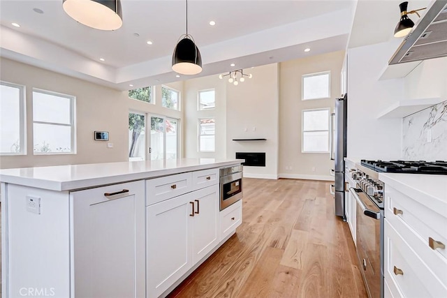
<path fill-rule="evenodd" d="M 35 154 L 76 153 L 75 97 L 33 89 Z"/>

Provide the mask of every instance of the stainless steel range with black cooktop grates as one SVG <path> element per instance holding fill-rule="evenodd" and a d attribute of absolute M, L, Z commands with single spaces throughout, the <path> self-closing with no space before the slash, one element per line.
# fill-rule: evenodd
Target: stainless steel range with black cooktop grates
<path fill-rule="evenodd" d="M 349 193 L 357 201 L 356 249 L 360 271 L 370 298 L 383 298 L 383 225 L 386 186 L 379 172 L 405 174 L 447 174 L 447 161 L 366 161 L 351 172 L 356 188 Z"/>

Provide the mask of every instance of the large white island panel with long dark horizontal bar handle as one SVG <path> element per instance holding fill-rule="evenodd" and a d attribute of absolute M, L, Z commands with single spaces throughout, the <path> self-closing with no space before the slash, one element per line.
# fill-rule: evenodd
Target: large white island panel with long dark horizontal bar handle
<path fill-rule="evenodd" d="M 76 191 L 71 204 L 73 296 L 145 297 L 144 181 Z"/>

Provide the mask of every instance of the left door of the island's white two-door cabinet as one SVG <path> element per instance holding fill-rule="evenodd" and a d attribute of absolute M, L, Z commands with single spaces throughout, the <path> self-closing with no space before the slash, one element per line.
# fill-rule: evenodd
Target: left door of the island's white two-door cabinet
<path fill-rule="evenodd" d="M 190 198 L 187 193 L 146 207 L 147 297 L 159 297 L 192 267 Z"/>

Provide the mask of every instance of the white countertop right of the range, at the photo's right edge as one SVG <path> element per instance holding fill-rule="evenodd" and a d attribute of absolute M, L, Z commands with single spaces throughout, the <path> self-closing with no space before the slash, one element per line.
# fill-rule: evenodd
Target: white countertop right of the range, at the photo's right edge
<path fill-rule="evenodd" d="M 447 175 L 379 173 L 379 179 L 447 217 Z"/>

